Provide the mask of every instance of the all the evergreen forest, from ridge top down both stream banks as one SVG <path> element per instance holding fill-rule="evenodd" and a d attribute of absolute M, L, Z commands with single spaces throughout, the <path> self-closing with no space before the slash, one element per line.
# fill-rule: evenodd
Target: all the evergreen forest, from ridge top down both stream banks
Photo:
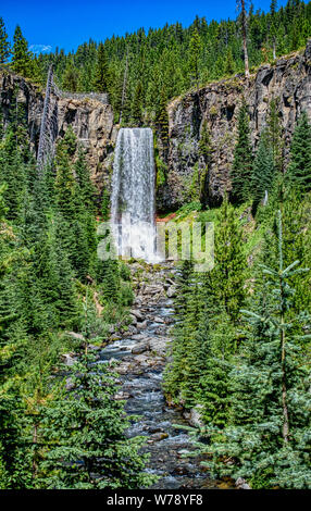
<path fill-rule="evenodd" d="M 52 65 L 60 91 L 108 95 L 117 129 L 153 129 L 158 191 L 170 172 L 170 102 L 231 77 L 247 83 L 262 64 L 302 54 L 311 38 L 311 2 L 278 8 L 272 0 L 269 12 L 238 7 L 236 20 L 197 16 L 187 27 L 141 27 L 40 54 L 18 25 L 11 41 L 0 17 L 0 75 L 43 94 Z M 27 104 L 18 88 L 12 95 L 9 105 L 0 102 L 0 488 L 152 487 L 159 474 L 148 437 L 127 434 L 135 416 L 126 396 L 116 398 L 119 362 L 97 362 L 113 335 L 119 340 L 145 320 L 139 286 L 165 265 L 99 259 L 111 186 L 95 183 L 72 125 L 39 172 Z M 213 147 L 202 123 L 204 173 L 181 208 L 161 211 L 177 226 L 214 224 L 211 271 L 197 272 L 191 259 L 170 266 L 162 392 L 167 407 L 197 417 L 174 427 L 189 435 L 206 478 L 310 489 L 311 110 L 297 108 L 289 136 L 270 98 L 256 147 L 252 136 L 241 90 L 222 201 L 207 194 Z"/>

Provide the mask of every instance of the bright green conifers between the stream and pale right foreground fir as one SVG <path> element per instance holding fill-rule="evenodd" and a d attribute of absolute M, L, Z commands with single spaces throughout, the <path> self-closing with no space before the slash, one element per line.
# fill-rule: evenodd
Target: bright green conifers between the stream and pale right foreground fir
<path fill-rule="evenodd" d="M 181 267 L 172 361 L 164 374 L 164 390 L 173 402 L 200 404 L 202 420 L 219 426 L 227 420 L 229 361 L 237 347 L 245 279 L 241 229 L 225 200 L 215 229 L 215 267 L 207 274 L 195 274 L 191 261 Z"/>

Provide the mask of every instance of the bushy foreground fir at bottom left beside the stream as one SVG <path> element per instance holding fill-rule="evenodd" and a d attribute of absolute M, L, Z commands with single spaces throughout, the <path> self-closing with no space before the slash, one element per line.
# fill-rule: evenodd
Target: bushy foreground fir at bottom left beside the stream
<path fill-rule="evenodd" d="M 113 399 L 113 374 L 83 354 L 72 367 L 72 390 L 46 410 L 40 435 L 48 450 L 39 465 L 42 488 L 146 487 L 153 477 L 139 454 L 141 438 L 126 438 L 123 402 Z M 89 365 L 92 364 L 92 370 Z"/>

